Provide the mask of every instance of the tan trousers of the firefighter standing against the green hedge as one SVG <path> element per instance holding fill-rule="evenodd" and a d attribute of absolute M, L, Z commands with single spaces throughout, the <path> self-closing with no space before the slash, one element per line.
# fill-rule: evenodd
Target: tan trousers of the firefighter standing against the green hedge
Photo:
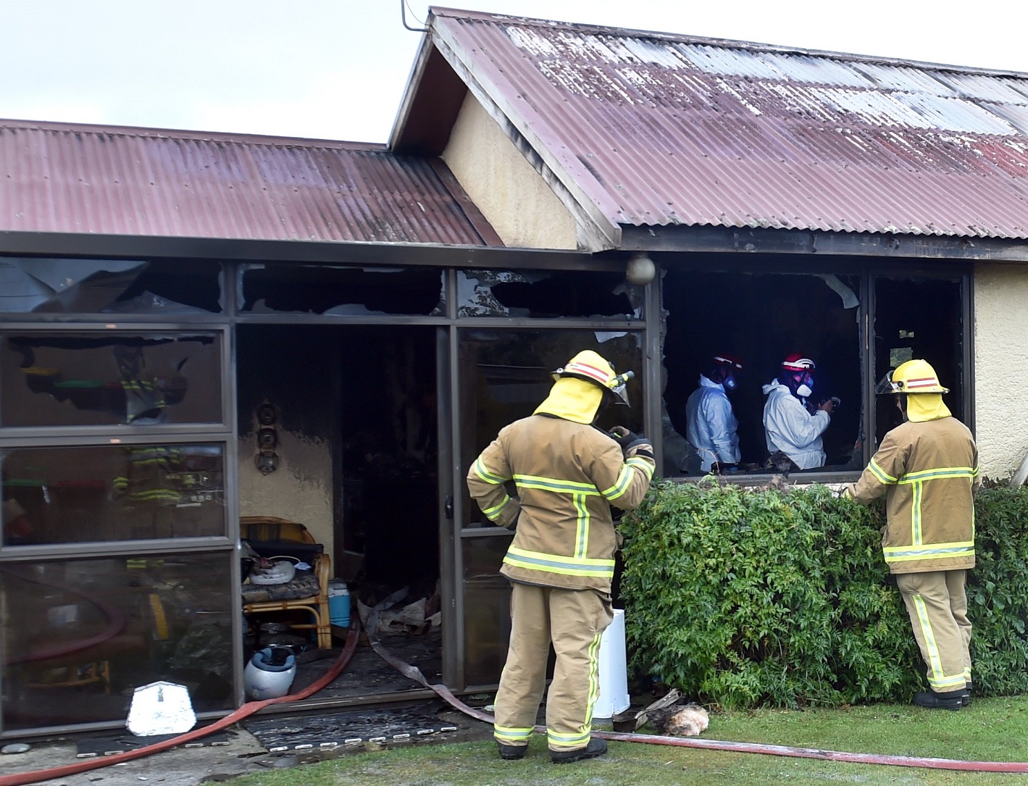
<path fill-rule="evenodd" d="M 966 570 L 896 574 L 896 587 L 928 667 L 928 685 L 937 694 L 961 690 L 970 681 L 966 581 Z"/>

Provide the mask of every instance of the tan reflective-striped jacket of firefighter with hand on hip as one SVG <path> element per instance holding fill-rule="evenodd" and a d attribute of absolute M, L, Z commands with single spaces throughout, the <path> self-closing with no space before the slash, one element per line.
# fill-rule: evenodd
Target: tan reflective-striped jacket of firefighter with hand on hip
<path fill-rule="evenodd" d="M 482 513 L 517 525 L 501 572 L 523 584 L 609 593 L 618 547 L 610 506 L 637 507 L 654 472 L 638 449 L 623 458 L 597 428 L 546 415 L 501 429 L 468 473 Z M 510 480 L 516 499 L 504 486 Z"/>

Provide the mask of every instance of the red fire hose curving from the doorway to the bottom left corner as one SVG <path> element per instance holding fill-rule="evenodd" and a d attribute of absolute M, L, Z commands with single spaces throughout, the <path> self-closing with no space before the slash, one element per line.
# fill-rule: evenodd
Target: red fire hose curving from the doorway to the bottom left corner
<path fill-rule="evenodd" d="M 269 705 L 286 704 L 288 702 L 298 702 L 302 699 L 306 699 L 332 682 L 342 673 L 343 669 L 350 665 L 350 661 L 353 659 L 354 652 L 357 650 L 357 640 L 360 633 L 361 623 L 355 614 L 351 620 L 350 631 L 346 633 L 346 641 L 342 646 L 342 651 L 339 653 L 335 663 L 332 664 L 332 668 L 319 679 L 295 694 L 282 696 L 278 699 L 264 699 L 259 702 L 248 702 L 231 714 L 226 715 L 223 718 L 219 718 L 210 725 L 206 725 L 200 728 L 193 728 L 192 731 L 186 732 L 178 737 L 162 740 L 161 742 L 154 743 L 153 745 L 147 745 L 143 748 L 137 748 L 136 750 L 125 751 L 124 753 L 114 753 L 110 756 L 104 756 L 103 758 L 88 759 L 86 761 L 80 761 L 74 764 L 64 764 L 62 766 L 49 768 L 47 770 L 37 770 L 31 773 L 15 773 L 14 775 L 0 776 L 0 786 L 26 786 L 26 784 L 38 783 L 39 781 L 48 781 L 51 778 L 67 778 L 72 775 L 77 775 L 78 773 L 99 770 L 102 766 L 110 766 L 111 764 L 118 764 L 123 761 L 132 761 L 133 759 L 143 758 L 144 756 L 159 753 L 160 751 L 168 750 L 169 748 L 174 748 L 178 745 L 184 745 L 185 743 L 192 742 L 193 740 L 198 740 L 215 732 L 220 732 L 222 728 L 226 728 L 244 718 L 250 717 L 255 712 L 264 709 Z"/>

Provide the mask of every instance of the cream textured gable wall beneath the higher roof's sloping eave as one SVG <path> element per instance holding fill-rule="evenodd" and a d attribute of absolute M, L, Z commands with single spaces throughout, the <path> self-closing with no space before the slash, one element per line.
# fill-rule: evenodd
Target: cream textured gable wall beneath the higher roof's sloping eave
<path fill-rule="evenodd" d="M 577 248 L 572 214 L 470 92 L 442 159 L 507 246 Z"/>

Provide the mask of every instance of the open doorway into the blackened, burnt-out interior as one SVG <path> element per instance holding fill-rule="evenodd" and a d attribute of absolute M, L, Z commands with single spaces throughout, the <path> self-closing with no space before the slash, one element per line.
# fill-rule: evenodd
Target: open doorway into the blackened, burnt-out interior
<path fill-rule="evenodd" d="M 380 616 L 383 644 L 438 680 L 435 330 L 241 325 L 236 358 L 241 514 L 304 524 L 331 557 L 332 577 L 345 583 L 352 617 L 393 597 Z M 346 630 L 337 604 L 333 609 L 338 647 Z M 289 614 L 254 616 L 248 658 L 257 642 L 291 642 L 301 662 L 294 689 L 327 670 L 328 658 L 303 663 L 304 651 L 317 646 L 310 633 L 287 628 L 296 622 Z M 346 672 L 319 696 L 354 699 L 416 687 L 359 647 Z"/>

